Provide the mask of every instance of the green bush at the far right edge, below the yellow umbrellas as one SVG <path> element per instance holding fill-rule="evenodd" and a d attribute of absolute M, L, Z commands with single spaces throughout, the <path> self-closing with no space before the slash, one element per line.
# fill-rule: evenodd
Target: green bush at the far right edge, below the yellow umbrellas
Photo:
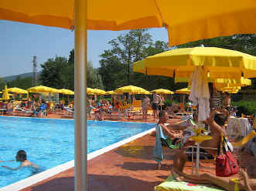
<path fill-rule="evenodd" d="M 244 115 L 253 115 L 256 112 L 256 101 L 244 101 L 232 102 L 232 106 L 237 106 L 238 113 L 244 113 Z"/>

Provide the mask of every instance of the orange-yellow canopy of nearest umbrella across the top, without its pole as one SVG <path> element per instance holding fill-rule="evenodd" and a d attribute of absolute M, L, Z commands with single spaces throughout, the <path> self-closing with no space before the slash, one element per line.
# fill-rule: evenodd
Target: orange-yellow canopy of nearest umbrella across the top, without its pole
<path fill-rule="evenodd" d="M 232 3 L 221 0 L 114 0 L 111 3 L 90 0 L 85 4 L 87 29 L 117 31 L 166 27 L 171 45 L 256 32 L 253 19 L 256 5 L 253 0 L 233 0 Z M 71 0 L 44 0 L 43 3 L 2 0 L 0 10 L 0 19 L 4 20 L 60 28 L 73 28 L 74 25 L 74 1 Z"/>

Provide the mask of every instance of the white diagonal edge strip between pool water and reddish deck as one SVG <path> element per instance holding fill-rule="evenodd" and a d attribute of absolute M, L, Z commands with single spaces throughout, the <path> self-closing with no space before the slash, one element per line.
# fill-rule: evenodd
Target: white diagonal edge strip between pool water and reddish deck
<path fill-rule="evenodd" d="M 154 123 L 152 123 L 152 124 L 154 124 Z M 125 145 L 128 142 L 131 142 L 131 141 L 138 139 L 142 136 L 148 135 L 148 133 L 153 132 L 153 131 L 155 131 L 155 128 L 148 129 L 145 132 L 138 133 L 137 135 L 131 136 L 131 137 L 124 139 L 120 142 L 115 142 L 114 144 L 112 144 L 110 146 L 104 147 L 102 149 L 98 149 L 97 151 L 94 151 L 94 152 L 90 152 L 90 154 L 87 154 L 87 160 L 94 159 L 95 157 L 100 156 L 100 155 L 104 154 L 105 152 L 111 151 L 112 149 L 116 149 L 119 146 Z M 14 190 L 25 189 L 28 186 L 32 186 L 33 184 L 39 183 L 39 182 L 43 181 L 44 179 L 48 179 L 51 176 L 54 176 L 58 173 L 62 173 L 63 171 L 73 168 L 73 167 L 74 167 L 74 160 L 71 160 L 67 163 L 63 163 L 60 166 L 55 166 L 51 169 L 47 169 L 46 171 L 43 171 L 42 173 L 36 174 L 36 175 L 31 176 L 26 179 L 22 179 L 16 183 L 12 183 L 8 186 L 4 186 L 0 190 L 1 191 L 10 191 L 10 190 L 14 191 Z"/>

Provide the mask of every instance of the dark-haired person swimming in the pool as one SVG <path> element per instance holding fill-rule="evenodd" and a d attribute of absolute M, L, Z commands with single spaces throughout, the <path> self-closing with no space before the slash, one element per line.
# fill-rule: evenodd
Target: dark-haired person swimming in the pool
<path fill-rule="evenodd" d="M 20 166 L 18 166 L 17 168 L 13 169 L 9 166 L 2 166 L 6 169 L 12 169 L 12 170 L 18 170 L 18 169 L 22 169 L 24 167 L 30 167 L 32 168 L 32 173 L 35 173 L 38 171 L 39 166 L 31 163 L 29 160 L 26 159 L 26 152 L 24 150 L 19 150 L 15 156 L 16 161 L 20 162 Z"/>

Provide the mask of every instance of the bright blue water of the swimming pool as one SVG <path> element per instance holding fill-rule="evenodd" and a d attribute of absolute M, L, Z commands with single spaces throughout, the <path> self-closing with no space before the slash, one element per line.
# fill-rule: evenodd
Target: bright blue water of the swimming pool
<path fill-rule="evenodd" d="M 137 122 L 87 121 L 87 152 L 110 146 L 154 126 Z M 0 132 L 0 160 L 15 159 L 19 149 L 24 149 L 29 161 L 42 169 L 50 169 L 74 159 L 73 120 L 1 116 Z M 5 162 L 0 165 L 15 168 L 19 163 Z M 0 167 L 0 188 L 28 176 L 31 176 L 29 169 L 12 171 Z"/>

